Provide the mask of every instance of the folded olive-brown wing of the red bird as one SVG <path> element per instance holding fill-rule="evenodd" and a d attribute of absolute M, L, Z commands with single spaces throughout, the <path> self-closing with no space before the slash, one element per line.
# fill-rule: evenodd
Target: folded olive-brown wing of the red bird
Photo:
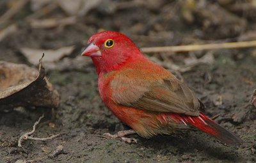
<path fill-rule="evenodd" d="M 141 74 L 147 78 L 145 74 Z M 153 76 L 153 77 L 152 77 Z M 132 76 L 122 75 L 111 81 L 112 98 L 115 103 L 131 106 L 141 110 L 184 113 L 199 115 L 202 103 L 193 92 L 177 78 L 148 78 L 152 80 L 135 80 Z M 157 80 L 156 80 L 157 79 Z"/>

